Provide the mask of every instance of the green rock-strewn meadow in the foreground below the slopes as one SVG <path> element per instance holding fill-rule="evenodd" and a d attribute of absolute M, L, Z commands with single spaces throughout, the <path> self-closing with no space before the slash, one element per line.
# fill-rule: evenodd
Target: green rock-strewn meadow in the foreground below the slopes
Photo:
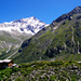
<path fill-rule="evenodd" d="M 81 63 L 41 62 L 0 70 L 3 81 L 81 81 Z"/>

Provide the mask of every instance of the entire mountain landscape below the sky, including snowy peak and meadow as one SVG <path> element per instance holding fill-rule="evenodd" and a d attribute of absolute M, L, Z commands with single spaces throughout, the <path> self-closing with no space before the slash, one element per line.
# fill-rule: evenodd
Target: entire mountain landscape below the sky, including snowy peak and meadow
<path fill-rule="evenodd" d="M 0 81 L 81 81 L 81 6 L 0 24 Z"/>

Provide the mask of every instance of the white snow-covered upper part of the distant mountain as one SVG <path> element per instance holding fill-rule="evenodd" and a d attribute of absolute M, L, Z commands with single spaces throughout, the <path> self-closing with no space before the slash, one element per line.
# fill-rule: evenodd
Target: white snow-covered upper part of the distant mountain
<path fill-rule="evenodd" d="M 30 33 L 35 35 L 46 24 L 37 19 L 35 16 L 28 18 L 16 19 L 10 23 L 0 24 L 0 30 L 12 32 L 12 33 Z"/>

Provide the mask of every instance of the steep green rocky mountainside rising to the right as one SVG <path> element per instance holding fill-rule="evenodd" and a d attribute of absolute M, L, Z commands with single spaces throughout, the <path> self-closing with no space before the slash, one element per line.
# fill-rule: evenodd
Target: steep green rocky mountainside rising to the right
<path fill-rule="evenodd" d="M 81 6 L 24 41 L 16 55 L 12 57 L 16 63 L 49 58 L 81 60 Z"/>

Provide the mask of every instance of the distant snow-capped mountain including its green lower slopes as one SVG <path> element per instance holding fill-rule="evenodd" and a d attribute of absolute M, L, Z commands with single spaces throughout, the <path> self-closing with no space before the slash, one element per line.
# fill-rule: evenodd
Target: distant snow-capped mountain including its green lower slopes
<path fill-rule="evenodd" d="M 45 26 L 45 23 L 33 16 L 0 24 L 0 58 L 13 54 L 24 40 L 30 38 Z"/>

